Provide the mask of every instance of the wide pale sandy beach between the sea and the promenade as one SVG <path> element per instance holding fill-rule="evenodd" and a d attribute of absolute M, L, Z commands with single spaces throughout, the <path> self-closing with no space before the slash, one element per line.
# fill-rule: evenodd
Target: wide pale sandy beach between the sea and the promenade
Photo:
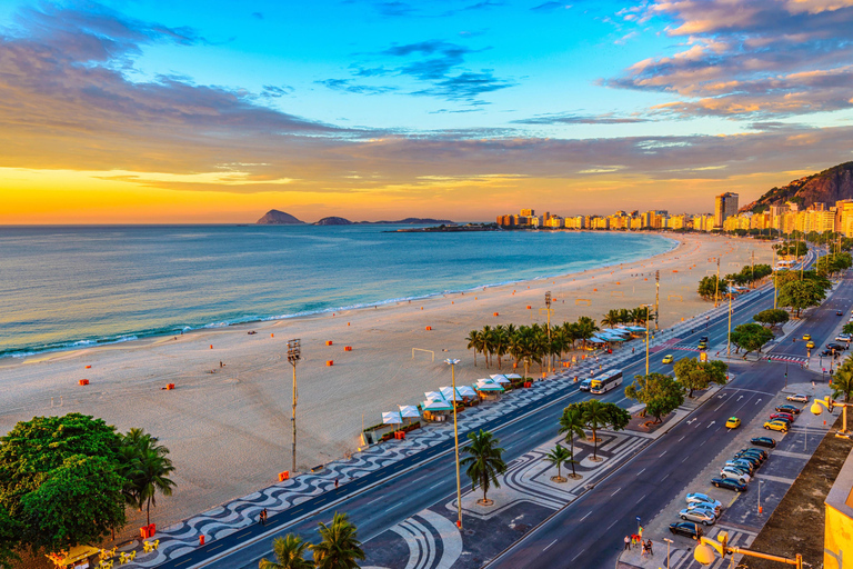
<path fill-rule="evenodd" d="M 456 366 L 460 383 L 495 373 L 494 368 L 485 369 L 481 356 L 474 367 L 473 352 L 465 349 L 468 332 L 484 325 L 544 323 L 546 290 L 554 298 L 552 325 L 579 316 L 600 320 L 611 308 L 653 303 L 654 271 L 660 270 L 660 325 L 668 327 L 712 307 L 695 292 L 698 281 L 715 272 L 712 258 L 722 257 L 721 274 L 749 264 L 752 251 L 755 263 L 772 260 L 766 242 L 708 234 L 668 237 L 680 241 L 668 253 L 560 278 L 6 358 L 0 360 L 0 432 L 33 416 L 72 411 L 101 417 L 122 431 L 144 428 L 171 450 L 177 467 L 174 495 L 158 498 L 152 510 L 152 521 L 167 527 L 270 486 L 280 471 L 290 470 L 290 338 L 302 343 L 297 423 L 298 465 L 305 471 L 353 452 L 362 416 L 367 426 L 375 425 L 382 411 L 417 405 L 424 391 L 449 385 L 445 358 L 461 360 Z M 506 279 L 512 279 L 511 267 Z M 257 333 L 247 333 L 250 330 Z M 352 351 L 344 351 L 345 346 L 352 346 Z M 424 351 L 413 357 L 413 348 L 431 350 L 434 361 Z M 538 372 L 538 367 L 532 371 Z M 83 378 L 89 386 L 78 385 Z M 161 389 L 167 383 L 175 389 Z M 132 535 L 143 520 L 143 515 L 131 513 L 126 535 Z"/>

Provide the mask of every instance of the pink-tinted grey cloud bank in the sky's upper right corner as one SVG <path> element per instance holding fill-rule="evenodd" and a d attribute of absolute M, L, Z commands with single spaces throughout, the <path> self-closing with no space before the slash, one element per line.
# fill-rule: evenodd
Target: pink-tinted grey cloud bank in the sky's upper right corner
<path fill-rule="evenodd" d="M 620 12 L 664 20 L 680 51 L 639 61 L 602 84 L 676 96 L 662 114 L 767 120 L 849 109 L 853 2 L 660 1 Z"/>

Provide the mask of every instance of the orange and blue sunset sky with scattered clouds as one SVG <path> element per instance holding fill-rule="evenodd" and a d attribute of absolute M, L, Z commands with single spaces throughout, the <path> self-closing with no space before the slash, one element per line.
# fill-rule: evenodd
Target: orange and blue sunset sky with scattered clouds
<path fill-rule="evenodd" d="M 0 224 L 708 212 L 853 160 L 853 0 L 0 0 Z"/>

